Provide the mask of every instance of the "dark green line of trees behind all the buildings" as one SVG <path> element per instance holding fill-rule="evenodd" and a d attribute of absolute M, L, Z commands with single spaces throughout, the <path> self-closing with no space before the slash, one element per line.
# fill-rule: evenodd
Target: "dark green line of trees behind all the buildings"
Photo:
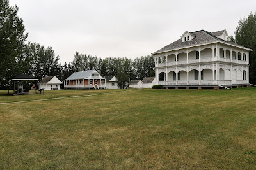
<path fill-rule="evenodd" d="M 0 85 L 6 87 L 8 78 L 20 73 L 29 74 L 42 80 L 44 76 L 54 75 L 61 81 L 74 71 L 95 69 L 102 76 L 118 76 L 127 85 L 129 80 L 142 80 L 154 76 L 154 56 L 107 57 L 102 59 L 93 55 L 74 53 L 72 62 L 61 64 L 51 46 L 44 47 L 35 42 L 26 41 L 28 32 L 22 18 L 17 15 L 19 8 L 10 6 L 8 0 L 0 0 Z M 250 52 L 250 82 L 256 83 L 256 13 L 239 20 L 235 38 L 231 41 L 253 49 Z"/>

